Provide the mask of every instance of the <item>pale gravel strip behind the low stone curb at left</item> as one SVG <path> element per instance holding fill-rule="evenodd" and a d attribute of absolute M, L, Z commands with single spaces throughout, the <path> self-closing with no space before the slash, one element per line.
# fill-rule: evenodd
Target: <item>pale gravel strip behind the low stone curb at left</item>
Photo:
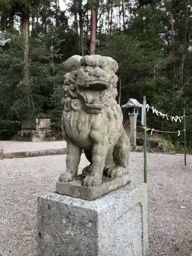
<path fill-rule="evenodd" d="M 4 153 L 49 150 L 53 148 L 66 147 L 66 141 L 31 142 L 31 141 L 1 140 L 0 147 L 3 148 Z"/>

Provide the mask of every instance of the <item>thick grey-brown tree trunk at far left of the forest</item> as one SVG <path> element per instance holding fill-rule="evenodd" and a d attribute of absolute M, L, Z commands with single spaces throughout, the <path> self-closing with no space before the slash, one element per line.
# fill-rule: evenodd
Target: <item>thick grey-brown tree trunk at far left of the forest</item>
<path fill-rule="evenodd" d="M 25 92 L 28 102 L 30 102 L 29 91 L 29 14 L 22 14 L 22 35 L 24 40 L 24 73 L 23 80 L 25 84 Z"/>

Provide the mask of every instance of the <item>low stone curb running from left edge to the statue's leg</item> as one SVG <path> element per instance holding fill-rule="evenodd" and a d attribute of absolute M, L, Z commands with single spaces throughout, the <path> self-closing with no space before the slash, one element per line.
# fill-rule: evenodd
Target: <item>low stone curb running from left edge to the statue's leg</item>
<path fill-rule="evenodd" d="M 65 155 L 67 152 L 66 148 L 52 148 L 49 150 L 38 150 L 38 151 L 21 151 L 13 153 L 3 153 L 3 158 L 22 158 L 22 157 L 37 157 L 37 156 L 50 156 L 50 155 Z"/>

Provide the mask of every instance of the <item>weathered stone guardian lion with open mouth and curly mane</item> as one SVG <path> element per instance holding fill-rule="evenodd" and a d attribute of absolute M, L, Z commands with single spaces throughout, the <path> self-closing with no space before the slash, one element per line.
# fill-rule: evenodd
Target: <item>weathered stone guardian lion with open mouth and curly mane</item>
<path fill-rule="evenodd" d="M 127 172 L 130 140 L 116 101 L 117 62 L 100 55 L 74 55 L 65 61 L 64 68 L 68 72 L 62 101 L 67 171 L 59 176 L 59 181 L 76 177 L 82 150 L 90 162 L 83 169 L 86 177 L 82 185 L 96 186 L 103 175 L 120 177 Z"/>

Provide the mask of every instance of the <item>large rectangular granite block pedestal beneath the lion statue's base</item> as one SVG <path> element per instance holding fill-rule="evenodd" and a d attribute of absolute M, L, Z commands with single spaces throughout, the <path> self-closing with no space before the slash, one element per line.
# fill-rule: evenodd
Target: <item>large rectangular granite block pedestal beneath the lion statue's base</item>
<path fill-rule="evenodd" d="M 94 201 L 38 196 L 38 256 L 144 256 L 147 188 L 126 185 Z"/>

